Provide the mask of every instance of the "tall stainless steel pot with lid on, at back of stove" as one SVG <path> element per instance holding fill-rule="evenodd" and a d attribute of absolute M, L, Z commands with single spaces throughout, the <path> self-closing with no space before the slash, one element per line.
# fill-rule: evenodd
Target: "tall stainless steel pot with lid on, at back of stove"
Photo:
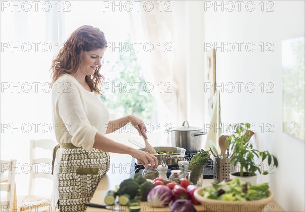
<path fill-rule="evenodd" d="M 182 123 L 182 127 L 171 128 L 166 133 L 170 133 L 171 146 L 184 148 L 186 149 L 186 153 L 196 152 L 202 149 L 202 135 L 207 134 L 203 132 L 203 128 L 190 127 L 187 120 Z"/>

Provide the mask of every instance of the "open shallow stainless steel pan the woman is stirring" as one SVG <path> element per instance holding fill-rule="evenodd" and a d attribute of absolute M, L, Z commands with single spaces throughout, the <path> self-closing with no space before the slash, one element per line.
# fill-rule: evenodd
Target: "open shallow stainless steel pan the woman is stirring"
<path fill-rule="evenodd" d="M 161 162 L 163 161 L 166 165 L 171 166 L 171 165 L 178 165 L 179 161 L 184 160 L 185 157 L 185 152 L 186 149 L 184 148 L 180 148 L 180 147 L 154 147 L 155 150 L 157 151 L 163 151 L 165 150 L 166 152 L 170 152 L 173 151 L 173 154 L 153 154 L 154 156 L 156 156 L 156 158 L 158 159 L 158 165 L 161 164 Z M 140 150 L 145 150 L 145 148 L 141 148 Z M 136 159 L 136 163 L 137 164 L 141 164 L 140 161 L 138 161 Z"/>

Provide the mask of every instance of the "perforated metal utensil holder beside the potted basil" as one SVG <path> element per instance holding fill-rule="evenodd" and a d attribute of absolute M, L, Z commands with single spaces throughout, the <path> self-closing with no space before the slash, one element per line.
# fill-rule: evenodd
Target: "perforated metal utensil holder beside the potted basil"
<path fill-rule="evenodd" d="M 230 179 L 230 173 L 235 171 L 233 163 L 230 163 L 230 158 L 214 157 L 214 183 L 220 183 L 225 179 Z"/>

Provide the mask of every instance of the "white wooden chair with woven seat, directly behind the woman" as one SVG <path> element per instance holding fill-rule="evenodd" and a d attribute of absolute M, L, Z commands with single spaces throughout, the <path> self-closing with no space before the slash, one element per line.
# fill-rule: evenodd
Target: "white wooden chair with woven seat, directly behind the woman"
<path fill-rule="evenodd" d="M 31 140 L 30 141 L 30 164 L 32 170 L 29 176 L 29 188 L 28 195 L 19 196 L 18 206 L 20 211 L 55 211 L 51 208 L 50 197 L 51 191 L 46 193 L 46 196 L 34 195 L 35 180 L 37 178 L 45 178 L 53 181 L 53 175 L 51 174 L 52 158 L 51 157 L 36 157 L 36 151 L 41 149 L 53 151 L 56 146 L 56 142 L 50 139 Z M 40 150 L 41 150 L 40 149 Z M 52 154 L 50 154 L 52 156 Z M 47 171 L 45 170 L 46 167 Z"/>

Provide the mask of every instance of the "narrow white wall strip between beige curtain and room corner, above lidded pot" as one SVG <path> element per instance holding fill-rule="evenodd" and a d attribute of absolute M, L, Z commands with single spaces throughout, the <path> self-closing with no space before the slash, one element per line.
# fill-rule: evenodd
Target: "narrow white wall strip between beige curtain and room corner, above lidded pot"
<path fill-rule="evenodd" d="M 203 23 L 203 1 L 186 1 L 186 56 L 188 60 L 188 89 L 191 91 L 188 95 L 188 121 L 192 126 L 201 127 L 204 123 L 204 28 Z M 200 24 L 201 23 L 201 24 Z M 203 145 L 204 147 L 205 145 Z"/>

